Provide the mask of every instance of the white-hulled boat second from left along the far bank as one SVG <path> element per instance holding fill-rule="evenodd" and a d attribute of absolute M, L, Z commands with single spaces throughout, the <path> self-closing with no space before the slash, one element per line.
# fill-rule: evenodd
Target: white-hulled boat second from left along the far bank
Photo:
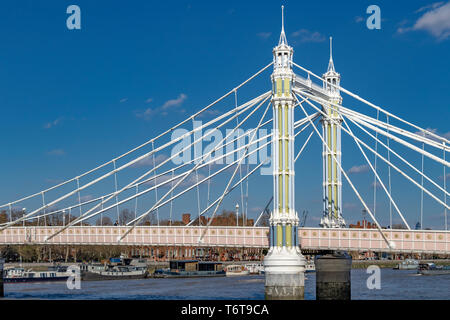
<path fill-rule="evenodd" d="M 109 263 L 80 265 L 81 280 L 130 280 L 148 276 L 145 259 L 111 258 Z"/>

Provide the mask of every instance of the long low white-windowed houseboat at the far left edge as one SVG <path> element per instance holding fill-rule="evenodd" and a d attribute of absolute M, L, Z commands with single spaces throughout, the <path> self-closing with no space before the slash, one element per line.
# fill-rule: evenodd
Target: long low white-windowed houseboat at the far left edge
<path fill-rule="evenodd" d="M 67 267 L 52 266 L 46 271 L 25 270 L 21 267 L 14 267 L 4 270 L 3 281 L 5 283 L 17 282 L 50 282 L 50 281 L 66 281 L 70 274 Z"/>

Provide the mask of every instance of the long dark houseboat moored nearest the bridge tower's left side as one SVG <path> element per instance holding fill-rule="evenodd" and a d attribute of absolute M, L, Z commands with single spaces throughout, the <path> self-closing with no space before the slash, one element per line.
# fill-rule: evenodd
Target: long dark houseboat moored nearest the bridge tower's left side
<path fill-rule="evenodd" d="M 169 268 L 158 269 L 154 278 L 223 277 L 225 271 L 221 262 L 198 260 L 172 260 Z"/>

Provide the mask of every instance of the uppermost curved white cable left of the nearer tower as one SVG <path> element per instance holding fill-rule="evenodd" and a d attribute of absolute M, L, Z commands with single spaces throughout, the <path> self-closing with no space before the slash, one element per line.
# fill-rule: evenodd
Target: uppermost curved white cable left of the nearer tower
<path fill-rule="evenodd" d="M 207 106 L 204 107 L 203 109 L 197 111 L 197 112 L 194 113 L 194 115 L 192 115 L 192 116 L 198 116 L 198 115 L 202 114 L 203 112 L 207 111 L 208 109 L 210 109 L 211 107 L 213 107 L 214 105 L 216 105 L 217 103 L 219 103 L 220 101 L 224 100 L 224 99 L 225 99 L 226 97 L 228 97 L 230 94 L 232 94 L 232 93 L 235 92 L 236 90 L 242 88 L 244 85 L 246 85 L 247 83 L 249 83 L 251 80 L 253 80 L 253 79 L 256 78 L 257 76 L 259 76 L 261 73 L 263 73 L 265 70 L 267 70 L 267 69 L 268 69 L 270 66 L 272 66 L 272 65 L 273 65 L 273 62 L 270 62 L 268 65 L 266 65 L 265 67 L 263 67 L 262 69 L 260 69 L 260 70 L 259 70 L 258 72 L 256 72 L 255 74 L 253 74 L 250 78 L 248 78 L 248 79 L 245 80 L 244 82 L 241 82 L 238 86 L 236 86 L 235 88 L 233 88 L 232 90 L 230 90 L 229 92 L 227 92 L 226 94 L 224 94 L 222 97 L 220 97 L 220 98 L 218 98 L 217 100 L 213 101 L 212 103 L 210 103 L 209 105 L 207 105 Z M 95 171 L 98 171 L 99 169 L 101 169 L 101 168 L 103 168 L 103 167 L 105 167 L 105 166 L 107 166 L 107 165 L 109 165 L 109 164 L 112 164 L 113 161 L 117 161 L 117 160 L 119 160 L 119 159 L 121 159 L 121 158 L 123 158 L 123 157 L 125 157 L 125 156 L 127 156 L 127 155 L 129 155 L 129 154 L 131 154 L 131 153 L 133 153 L 133 152 L 135 152 L 135 151 L 137 151 L 137 150 L 139 150 L 139 149 L 142 149 L 143 147 L 147 146 L 147 145 L 150 144 L 151 142 L 154 142 L 154 141 L 160 139 L 161 137 L 163 137 L 163 136 L 165 136 L 165 135 L 167 135 L 167 134 L 173 132 L 173 130 L 175 130 L 175 129 L 181 127 L 183 124 L 185 124 L 186 122 L 188 122 L 188 121 L 191 119 L 192 116 L 190 116 L 190 117 L 184 119 L 183 121 L 179 122 L 179 123 L 176 124 L 175 126 L 173 126 L 173 127 L 171 127 L 170 129 L 168 129 L 168 130 L 166 130 L 166 131 L 160 133 L 160 134 L 157 135 L 156 137 L 154 137 L 154 138 L 148 140 L 147 142 L 145 142 L 145 143 L 143 143 L 143 144 L 141 144 L 141 145 L 135 147 L 134 149 L 131 149 L 131 150 L 129 150 L 129 151 L 123 153 L 122 155 L 120 155 L 120 156 L 118 156 L 118 157 L 116 157 L 116 158 L 114 158 L 114 159 L 112 159 L 112 160 L 110 160 L 110 161 L 108 161 L 108 162 L 105 162 L 105 163 L 103 163 L 103 164 L 101 164 L 101 165 L 99 165 L 99 166 L 97 166 L 97 167 L 95 167 L 95 168 L 93 168 L 93 169 L 91 169 L 91 170 L 89 170 L 89 171 L 86 171 L 86 172 L 84 172 L 84 173 L 81 174 L 81 175 L 78 175 L 78 176 L 76 176 L 76 177 L 74 177 L 74 178 L 72 178 L 72 179 L 69 179 L 69 180 L 66 180 L 66 181 L 64 181 L 64 182 L 61 182 L 61 183 L 59 183 L 59 184 L 57 184 L 57 185 L 55 185 L 55 186 L 52 186 L 52 187 L 50 187 L 50 188 L 47 188 L 47 189 L 43 190 L 43 191 L 37 192 L 37 193 L 35 193 L 35 194 L 31 194 L 31 195 L 29 195 L 29 196 L 23 197 L 23 198 L 18 199 L 18 200 L 15 200 L 15 201 L 13 201 L 13 202 L 11 202 L 11 203 L 7 203 L 7 204 L 0 205 L 0 208 L 7 207 L 9 204 L 13 205 L 13 204 L 20 203 L 20 202 L 22 202 L 22 201 L 25 201 L 25 200 L 28 200 L 28 199 L 37 197 L 37 196 L 39 196 L 39 195 L 41 194 L 41 192 L 48 192 L 48 191 L 57 189 L 57 188 L 62 187 L 62 186 L 66 185 L 66 184 L 68 184 L 68 183 L 70 183 L 70 182 L 72 182 L 72 181 L 75 181 L 77 178 L 82 178 L 82 177 L 84 177 L 84 176 L 86 176 L 86 175 L 89 175 L 89 174 L 95 172 Z"/>

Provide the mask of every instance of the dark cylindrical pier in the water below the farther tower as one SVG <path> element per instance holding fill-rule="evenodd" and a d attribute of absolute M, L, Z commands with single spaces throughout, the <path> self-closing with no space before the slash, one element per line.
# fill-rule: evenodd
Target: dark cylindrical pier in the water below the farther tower
<path fill-rule="evenodd" d="M 346 252 L 316 256 L 316 300 L 350 300 L 352 258 Z"/>

